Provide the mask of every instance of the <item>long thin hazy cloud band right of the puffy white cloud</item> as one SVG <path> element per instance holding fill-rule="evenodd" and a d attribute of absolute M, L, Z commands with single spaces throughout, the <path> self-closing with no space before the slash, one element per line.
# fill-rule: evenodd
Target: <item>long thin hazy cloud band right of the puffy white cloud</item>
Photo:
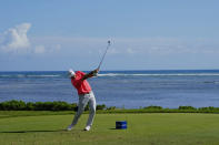
<path fill-rule="evenodd" d="M 34 45 L 43 44 L 47 55 L 101 58 L 108 38 L 40 37 L 31 40 Z M 188 54 L 219 54 L 219 42 L 212 39 L 112 38 L 108 51 L 108 55 L 112 58 L 122 55 L 143 59 Z"/>

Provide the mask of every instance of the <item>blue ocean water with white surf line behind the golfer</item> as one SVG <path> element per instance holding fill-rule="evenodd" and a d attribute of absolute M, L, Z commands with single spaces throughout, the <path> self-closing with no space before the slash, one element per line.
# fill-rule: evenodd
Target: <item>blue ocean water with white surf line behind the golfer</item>
<path fill-rule="evenodd" d="M 219 70 L 101 71 L 88 80 L 97 104 L 125 108 L 149 105 L 219 107 Z M 77 103 L 67 72 L 0 72 L 0 102 Z"/>

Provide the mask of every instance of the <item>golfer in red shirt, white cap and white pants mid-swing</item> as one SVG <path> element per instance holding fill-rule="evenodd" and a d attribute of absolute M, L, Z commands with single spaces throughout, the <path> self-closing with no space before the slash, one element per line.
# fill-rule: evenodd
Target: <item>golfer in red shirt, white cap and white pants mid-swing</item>
<path fill-rule="evenodd" d="M 78 120 L 83 113 L 87 104 L 89 104 L 90 113 L 84 131 L 90 131 L 96 114 L 96 99 L 87 79 L 94 76 L 98 72 L 99 69 L 96 69 L 87 74 L 81 71 L 73 72 L 72 70 L 69 70 L 69 77 L 71 79 L 71 84 L 78 91 L 79 103 L 78 103 L 78 112 L 76 113 L 73 121 L 71 125 L 68 126 L 67 131 L 71 131 L 71 128 L 73 128 L 73 126 L 78 123 Z"/>

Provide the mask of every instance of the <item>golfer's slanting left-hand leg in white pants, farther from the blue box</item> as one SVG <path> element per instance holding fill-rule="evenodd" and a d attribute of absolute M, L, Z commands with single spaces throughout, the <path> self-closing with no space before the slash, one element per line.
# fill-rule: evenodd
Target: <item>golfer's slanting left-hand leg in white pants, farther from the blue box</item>
<path fill-rule="evenodd" d="M 74 126 L 78 123 L 79 117 L 83 113 L 83 110 L 86 105 L 88 104 L 88 97 L 84 97 L 84 95 L 79 96 L 79 104 L 78 104 L 78 112 L 76 113 L 73 121 L 71 123 L 71 126 Z"/>

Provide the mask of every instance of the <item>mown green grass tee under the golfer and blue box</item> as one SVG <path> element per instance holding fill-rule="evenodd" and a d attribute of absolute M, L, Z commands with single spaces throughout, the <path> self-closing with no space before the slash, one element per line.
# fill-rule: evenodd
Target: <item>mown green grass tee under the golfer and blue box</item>
<path fill-rule="evenodd" d="M 48 115 L 49 114 L 49 115 Z M 218 145 L 219 114 L 142 113 L 97 114 L 90 132 L 83 132 L 83 114 L 71 132 L 70 112 L 0 112 L 1 145 Z M 116 121 L 128 130 L 115 130 Z"/>

